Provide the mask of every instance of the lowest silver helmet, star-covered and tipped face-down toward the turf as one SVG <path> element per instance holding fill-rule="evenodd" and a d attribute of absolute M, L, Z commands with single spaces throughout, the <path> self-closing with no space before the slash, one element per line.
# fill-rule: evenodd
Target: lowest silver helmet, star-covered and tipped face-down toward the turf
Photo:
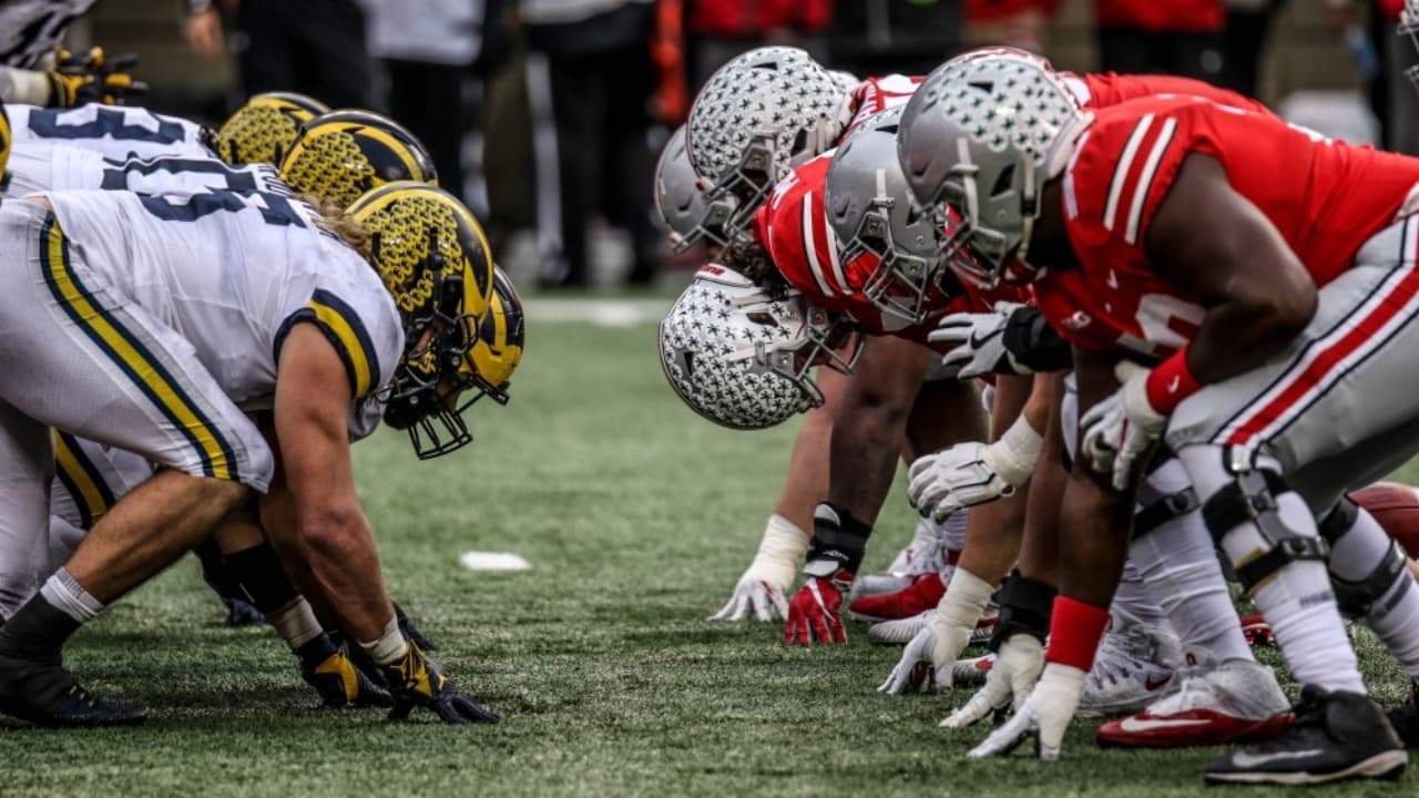
<path fill-rule="evenodd" d="M 660 322 L 660 365 L 677 395 L 731 429 L 765 429 L 823 403 L 815 365 L 850 372 L 847 325 L 800 294 L 773 295 L 707 266 Z"/>

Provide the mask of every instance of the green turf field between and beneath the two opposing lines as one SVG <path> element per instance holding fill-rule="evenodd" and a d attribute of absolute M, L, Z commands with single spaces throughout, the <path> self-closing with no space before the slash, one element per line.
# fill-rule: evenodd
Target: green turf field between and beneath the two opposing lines
<path fill-rule="evenodd" d="M 189 558 L 70 649 L 91 687 L 149 707 L 149 724 L 0 726 L 0 795 L 1203 791 L 1215 751 L 1103 753 L 1084 721 L 1063 761 L 968 763 L 981 731 L 937 727 L 964 696 L 878 696 L 897 652 L 867 645 L 863 626 L 849 626 L 846 649 L 805 652 L 779 645 L 778 625 L 704 622 L 753 552 L 792 432 L 732 433 L 683 408 L 653 325 L 539 325 L 532 314 L 514 402 L 480 408 L 474 446 L 431 463 L 389 432 L 356 447 L 393 594 L 501 726 L 311 709 L 268 630 L 219 625 Z M 878 530 L 874 567 L 910 535 L 900 496 Z M 473 574 L 457 564 L 467 550 L 518 552 L 534 569 Z M 1359 643 L 1375 694 L 1396 703 L 1399 672 L 1368 633 Z M 1416 785 L 1410 771 L 1334 792 Z"/>

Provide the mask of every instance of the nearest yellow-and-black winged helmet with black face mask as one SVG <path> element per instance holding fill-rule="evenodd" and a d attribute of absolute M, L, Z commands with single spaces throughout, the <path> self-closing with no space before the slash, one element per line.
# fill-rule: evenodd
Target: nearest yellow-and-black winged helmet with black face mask
<path fill-rule="evenodd" d="M 471 400 L 458 395 L 480 386 L 471 356 L 494 295 L 482 227 L 443 189 L 412 180 L 366 193 L 348 216 L 368 234 L 366 254 L 404 327 L 385 422 L 409 430 L 420 459 L 453 452 L 473 440 L 463 420 Z"/>

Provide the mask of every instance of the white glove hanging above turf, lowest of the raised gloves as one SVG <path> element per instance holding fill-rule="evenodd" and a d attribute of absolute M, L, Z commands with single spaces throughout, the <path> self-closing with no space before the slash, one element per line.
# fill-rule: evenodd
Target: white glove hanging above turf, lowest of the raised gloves
<path fill-rule="evenodd" d="M 1020 416 L 989 446 L 958 443 L 917 457 L 908 470 L 907 500 L 939 524 L 956 510 L 1010 496 L 1030 479 L 1043 444 Z"/>

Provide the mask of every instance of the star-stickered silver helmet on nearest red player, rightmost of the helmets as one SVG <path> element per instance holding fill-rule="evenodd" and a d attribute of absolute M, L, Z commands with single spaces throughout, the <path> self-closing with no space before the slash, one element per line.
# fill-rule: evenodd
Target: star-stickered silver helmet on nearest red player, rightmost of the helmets
<path fill-rule="evenodd" d="M 927 77 L 902 112 L 897 155 L 915 200 L 946 229 L 946 261 L 985 287 L 1025 264 L 1039 195 L 1064 170 L 1091 118 L 1049 62 L 1016 53 L 959 57 Z M 968 247 L 975 257 L 956 257 Z"/>

